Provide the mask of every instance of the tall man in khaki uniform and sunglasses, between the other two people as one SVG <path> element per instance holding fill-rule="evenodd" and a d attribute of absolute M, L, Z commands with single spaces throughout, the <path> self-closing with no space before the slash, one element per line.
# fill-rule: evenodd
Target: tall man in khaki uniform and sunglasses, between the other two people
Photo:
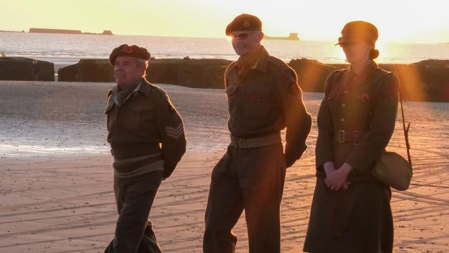
<path fill-rule="evenodd" d="M 240 55 L 225 73 L 231 144 L 212 171 L 203 250 L 235 252 L 231 229 L 245 209 L 249 252 L 280 252 L 285 169 L 305 151 L 311 117 L 292 68 L 260 45 L 260 19 L 240 15 L 226 34 Z"/>

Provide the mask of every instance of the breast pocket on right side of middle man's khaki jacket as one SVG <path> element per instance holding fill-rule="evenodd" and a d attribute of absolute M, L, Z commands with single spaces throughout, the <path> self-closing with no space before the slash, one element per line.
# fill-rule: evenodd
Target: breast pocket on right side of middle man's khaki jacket
<path fill-rule="evenodd" d="M 269 87 L 265 86 L 245 89 L 242 97 L 242 102 L 245 106 L 245 116 L 250 119 L 267 117 L 269 110 L 273 106 L 270 93 Z"/>

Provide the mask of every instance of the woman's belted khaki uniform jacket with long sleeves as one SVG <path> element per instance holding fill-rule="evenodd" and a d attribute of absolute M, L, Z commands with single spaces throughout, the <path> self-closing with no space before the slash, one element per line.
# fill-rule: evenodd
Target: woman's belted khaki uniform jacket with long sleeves
<path fill-rule="evenodd" d="M 318 111 L 317 176 L 323 164 L 354 167 L 349 180 L 371 179 L 371 169 L 387 146 L 396 122 L 399 79 L 374 62 L 363 73 L 335 71 L 327 78 Z"/>

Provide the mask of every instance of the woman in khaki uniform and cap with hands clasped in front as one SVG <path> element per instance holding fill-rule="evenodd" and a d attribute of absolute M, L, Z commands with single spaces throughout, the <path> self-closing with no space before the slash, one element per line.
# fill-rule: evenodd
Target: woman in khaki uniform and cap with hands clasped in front
<path fill-rule="evenodd" d="M 304 251 L 392 252 L 391 190 L 372 176 L 397 115 L 399 80 L 374 59 L 377 28 L 345 25 L 338 39 L 350 68 L 335 71 L 318 112 L 316 188 Z"/>

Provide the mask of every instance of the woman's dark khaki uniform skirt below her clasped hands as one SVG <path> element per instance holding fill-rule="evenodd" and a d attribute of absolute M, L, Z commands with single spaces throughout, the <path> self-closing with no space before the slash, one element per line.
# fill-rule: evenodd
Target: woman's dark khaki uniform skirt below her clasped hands
<path fill-rule="evenodd" d="M 379 181 L 332 191 L 316 179 L 304 251 L 387 253 L 393 247 L 391 190 Z"/>

